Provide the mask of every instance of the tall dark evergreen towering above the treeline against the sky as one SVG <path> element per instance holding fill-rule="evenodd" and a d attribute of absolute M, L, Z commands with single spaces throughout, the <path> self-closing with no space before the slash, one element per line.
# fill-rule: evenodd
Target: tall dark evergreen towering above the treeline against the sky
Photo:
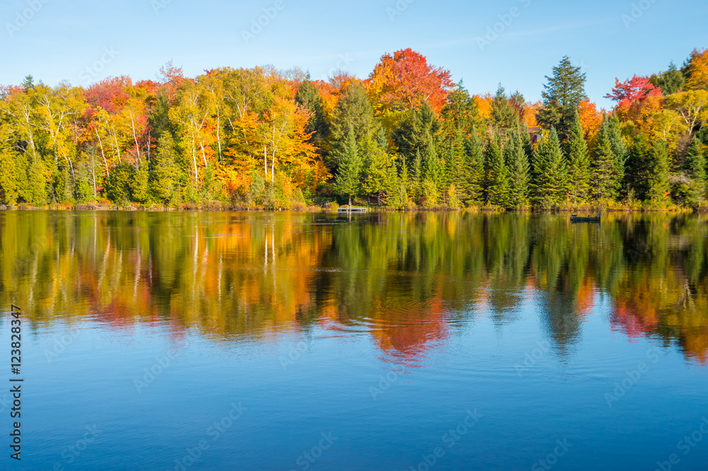
<path fill-rule="evenodd" d="M 563 140 L 569 136 L 573 113 L 578 104 L 588 97 L 585 93 L 586 76 L 580 66 L 573 66 L 568 56 L 553 68 L 553 76 L 546 76 L 542 92 L 543 108 L 537 120 L 544 127 L 555 127 Z"/>

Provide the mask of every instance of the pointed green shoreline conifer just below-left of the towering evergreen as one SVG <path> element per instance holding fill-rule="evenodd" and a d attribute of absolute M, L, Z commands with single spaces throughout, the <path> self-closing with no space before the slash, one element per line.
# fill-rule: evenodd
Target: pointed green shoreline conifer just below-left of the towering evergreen
<path fill-rule="evenodd" d="M 532 205 L 549 209 L 563 202 L 566 196 L 566 165 L 555 128 L 551 128 L 539 141 L 533 167 Z"/>

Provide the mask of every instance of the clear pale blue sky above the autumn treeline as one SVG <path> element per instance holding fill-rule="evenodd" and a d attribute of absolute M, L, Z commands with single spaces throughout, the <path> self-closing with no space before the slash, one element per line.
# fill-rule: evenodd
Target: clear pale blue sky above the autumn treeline
<path fill-rule="evenodd" d="M 4 0 L 0 83 L 27 74 L 50 85 L 155 79 L 169 59 L 188 76 L 273 64 L 315 79 L 338 68 L 365 78 L 384 52 L 411 47 L 472 93 L 501 82 L 529 100 L 567 54 L 586 70 L 590 99 L 610 107 L 603 95 L 615 76 L 680 66 L 694 47 L 708 47 L 708 2 L 697 0 L 280 1 Z M 263 8 L 277 14 L 244 40 Z M 480 47 L 477 37 L 495 27 L 498 37 Z"/>

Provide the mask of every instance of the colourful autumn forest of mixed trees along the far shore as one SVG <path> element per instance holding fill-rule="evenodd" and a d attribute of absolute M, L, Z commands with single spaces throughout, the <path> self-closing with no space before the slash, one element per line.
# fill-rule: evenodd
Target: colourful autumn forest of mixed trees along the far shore
<path fill-rule="evenodd" d="M 475 94 L 411 49 L 366 79 L 171 62 L 156 80 L 0 86 L 0 205 L 707 209 L 708 50 L 615 79 L 563 57 L 542 100 Z"/>

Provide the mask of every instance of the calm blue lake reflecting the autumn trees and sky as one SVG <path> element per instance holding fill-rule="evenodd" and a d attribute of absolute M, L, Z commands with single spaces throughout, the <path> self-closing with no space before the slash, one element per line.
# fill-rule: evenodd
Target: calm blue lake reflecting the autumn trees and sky
<path fill-rule="evenodd" d="M 0 468 L 704 470 L 707 221 L 1 211 Z"/>

